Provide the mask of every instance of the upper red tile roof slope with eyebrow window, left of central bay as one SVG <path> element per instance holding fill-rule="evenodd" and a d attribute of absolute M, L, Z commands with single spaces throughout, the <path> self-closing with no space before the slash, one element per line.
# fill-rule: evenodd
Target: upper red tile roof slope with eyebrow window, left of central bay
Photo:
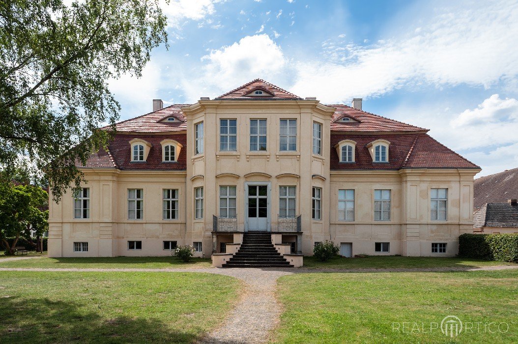
<path fill-rule="evenodd" d="M 186 128 L 186 119 L 183 116 L 181 108 L 189 106 L 186 104 L 175 104 L 165 107 L 161 110 L 153 111 L 116 123 L 118 132 L 132 132 L 132 133 L 163 133 L 163 132 L 178 132 L 184 131 Z M 168 117 L 174 117 L 177 121 L 174 122 L 160 122 Z M 103 127 L 109 130 L 109 126 Z"/>

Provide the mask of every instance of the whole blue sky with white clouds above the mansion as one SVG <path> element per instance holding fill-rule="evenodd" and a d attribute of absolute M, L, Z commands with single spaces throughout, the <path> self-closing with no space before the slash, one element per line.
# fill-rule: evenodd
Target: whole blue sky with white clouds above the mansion
<path fill-rule="evenodd" d="M 110 88 L 121 119 L 255 78 L 430 129 L 480 165 L 518 166 L 516 1 L 171 0 L 170 46 Z"/>

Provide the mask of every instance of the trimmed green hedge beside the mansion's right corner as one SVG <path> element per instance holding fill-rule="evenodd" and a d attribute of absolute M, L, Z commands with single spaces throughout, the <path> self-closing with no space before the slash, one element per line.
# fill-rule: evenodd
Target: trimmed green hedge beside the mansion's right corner
<path fill-rule="evenodd" d="M 458 237 L 458 255 L 490 261 L 518 262 L 518 235 L 462 234 Z"/>

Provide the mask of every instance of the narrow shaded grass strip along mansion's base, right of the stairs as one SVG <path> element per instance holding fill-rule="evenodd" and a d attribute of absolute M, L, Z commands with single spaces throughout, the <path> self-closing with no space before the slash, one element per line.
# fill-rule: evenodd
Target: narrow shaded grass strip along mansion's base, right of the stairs
<path fill-rule="evenodd" d="M 327 262 L 321 262 L 315 257 L 304 257 L 306 268 L 328 269 L 381 269 L 381 268 L 431 268 L 431 267 L 482 267 L 494 265 L 516 265 L 515 263 L 483 261 L 459 257 L 402 257 L 367 256 L 365 258 L 335 257 Z"/>

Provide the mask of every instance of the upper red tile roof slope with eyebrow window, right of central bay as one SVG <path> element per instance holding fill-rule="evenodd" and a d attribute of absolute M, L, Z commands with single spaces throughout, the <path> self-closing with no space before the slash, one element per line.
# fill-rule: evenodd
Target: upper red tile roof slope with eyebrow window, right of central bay
<path fill-rule="evenodd" d="M 335 132 L 428 132 L 428 129 L 378 116 L 347 105 L 327 105 L 336 107 L 331 119 L 331 131 Z M 349 117 L 357 122 L 342 122 Z"/>

